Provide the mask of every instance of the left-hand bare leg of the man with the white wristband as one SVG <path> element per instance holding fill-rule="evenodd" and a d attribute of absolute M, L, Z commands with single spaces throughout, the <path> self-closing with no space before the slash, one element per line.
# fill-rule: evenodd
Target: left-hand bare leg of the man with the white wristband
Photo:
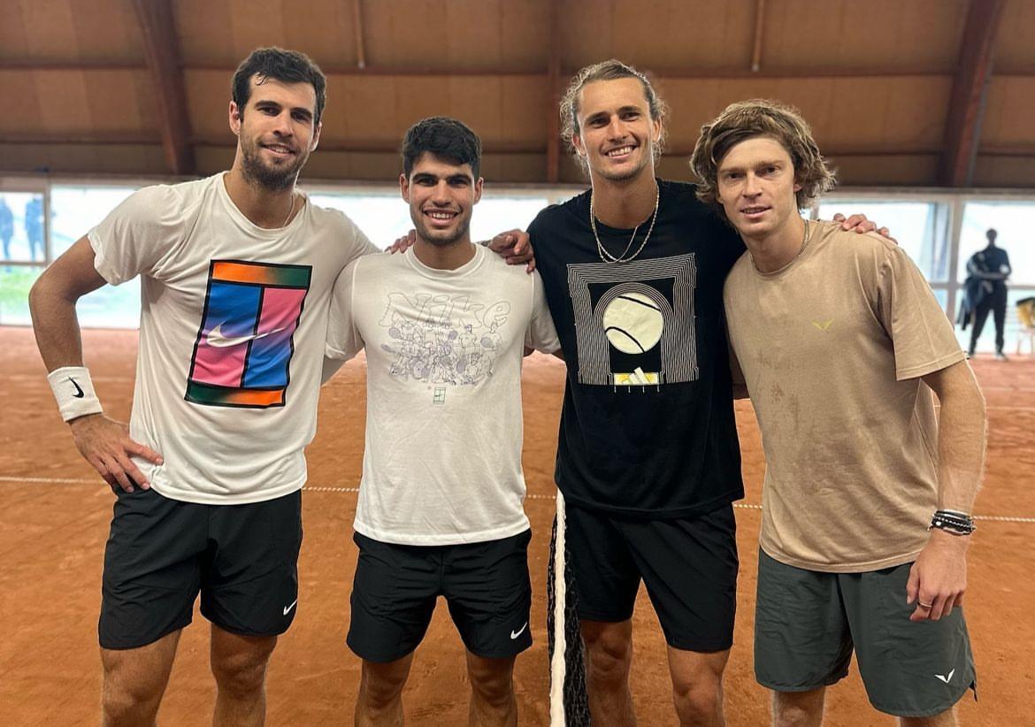
<path fill-rule="evenodd" d="M 180 632 L 166 634 L 140 648 L 100 649 L 105 670 L 101 724 L 105 727 L 150 727 L 176 658 Z"/>

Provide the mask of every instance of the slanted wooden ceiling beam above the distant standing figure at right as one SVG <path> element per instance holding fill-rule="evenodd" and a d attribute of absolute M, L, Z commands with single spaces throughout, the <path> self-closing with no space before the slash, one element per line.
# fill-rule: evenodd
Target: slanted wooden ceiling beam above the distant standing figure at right
<path fill-rule="evenodd" d="M 947 187 L 969 187 L 974 182 L 996 31 L 1004 4 L 1004 0 L 971 0 L 967 12 L 938 170 L 939 183 Z"/>

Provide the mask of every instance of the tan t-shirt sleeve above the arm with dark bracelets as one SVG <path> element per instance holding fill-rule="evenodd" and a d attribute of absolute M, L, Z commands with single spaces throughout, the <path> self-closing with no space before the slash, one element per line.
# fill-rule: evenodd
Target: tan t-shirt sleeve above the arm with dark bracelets
<path fill-rule="evenodd" d="M 916 378 L 964 360 L 963 350 L 930 285 L 909 255 L 881 242 L 878 255 L 878 305 L 895 355 L 895 378 Z"/>

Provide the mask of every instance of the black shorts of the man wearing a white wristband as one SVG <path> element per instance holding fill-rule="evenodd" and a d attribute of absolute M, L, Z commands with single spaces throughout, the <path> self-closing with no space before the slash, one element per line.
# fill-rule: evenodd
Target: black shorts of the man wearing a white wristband
<path fill-rule="evenodd" d="M 298 610 L 301 492 L 247 505 L 199 505 L 153 489 L 120 492 L 105 550 L 97 631 L 137 648 L 201 612 L 226 631 L 275 636 Z"/>

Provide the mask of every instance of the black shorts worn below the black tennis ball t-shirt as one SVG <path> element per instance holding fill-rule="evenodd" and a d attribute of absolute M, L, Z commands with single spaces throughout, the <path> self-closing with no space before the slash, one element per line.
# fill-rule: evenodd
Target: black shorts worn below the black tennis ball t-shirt
<path fill-rule="evenodd" d="M 631 618 L 642 579 L 670 646 L 721 652 L 733 645 L 738 562 L 732 505 L 674 520 L 612 517 L 570 505 L 566 512 L 580 618 Z"/>

